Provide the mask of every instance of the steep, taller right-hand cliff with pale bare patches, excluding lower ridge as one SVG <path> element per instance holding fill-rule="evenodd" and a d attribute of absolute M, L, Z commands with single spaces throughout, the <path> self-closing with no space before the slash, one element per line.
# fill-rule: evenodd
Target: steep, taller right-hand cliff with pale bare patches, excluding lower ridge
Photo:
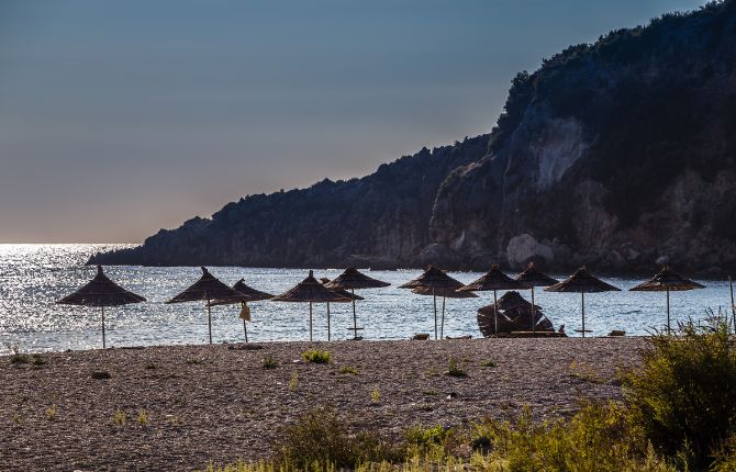
<path fill-rule="evenodd" d="M 443 183 L 433 238 L 461 267 L 736 268 L 734 58 L 726 2 L 518 75 L 489 156 Z"/>

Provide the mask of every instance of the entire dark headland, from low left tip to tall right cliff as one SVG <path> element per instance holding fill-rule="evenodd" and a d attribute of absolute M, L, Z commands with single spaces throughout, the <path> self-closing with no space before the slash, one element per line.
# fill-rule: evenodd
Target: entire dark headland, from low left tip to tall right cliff
<path fill-rule="evenodd" d="M 520 74 L 490 138 L 248 196 L 91 262 L 736 269 L 735 58 L 733 0 L 612 32 Z"/>

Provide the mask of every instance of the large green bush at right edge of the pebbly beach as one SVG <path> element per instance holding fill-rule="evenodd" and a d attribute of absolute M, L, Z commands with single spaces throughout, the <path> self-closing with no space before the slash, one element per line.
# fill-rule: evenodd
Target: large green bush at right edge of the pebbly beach
<path fill-rule="evenodd" d="M 722 321 L 654 336 L 623 385 L 633 422 L 668 456 L 689 445 L 695 465 L 705 465 L 734 432 L 736 349 Z"/>

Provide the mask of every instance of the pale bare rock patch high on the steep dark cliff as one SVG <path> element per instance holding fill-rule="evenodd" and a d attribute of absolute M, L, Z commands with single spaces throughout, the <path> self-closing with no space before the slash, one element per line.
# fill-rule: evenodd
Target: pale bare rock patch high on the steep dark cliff
<path fill-rule="evenodd" d="M 537 156 L 539 173 L 537 186 L 542 189 L 558 182 L 565 172 L 583 155 L 582 124 L 575 119 L 551 120 L 539 139 L 529 145 Z"/>

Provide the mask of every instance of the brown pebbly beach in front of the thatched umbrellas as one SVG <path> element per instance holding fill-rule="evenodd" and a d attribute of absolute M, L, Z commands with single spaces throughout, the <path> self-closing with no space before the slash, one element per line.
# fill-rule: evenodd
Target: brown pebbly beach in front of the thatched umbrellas
<path fill-rule="evenodd" d="M 268 457 L 330 405 L 355 429 L 565 415 L 621 398 L 645 338 L 263 342 L 0 357 L 2 470 L 197 470 Z M 331 352 L 331 363 L 302 352 Z M 264 368 L 264 359 L 278 362 Z M 451 377 L 450 358 L 467 377 Z M 104 373 L 102 373 L 104 372 Z M 109 379 L 103 379 L 109 377 Z"/>

